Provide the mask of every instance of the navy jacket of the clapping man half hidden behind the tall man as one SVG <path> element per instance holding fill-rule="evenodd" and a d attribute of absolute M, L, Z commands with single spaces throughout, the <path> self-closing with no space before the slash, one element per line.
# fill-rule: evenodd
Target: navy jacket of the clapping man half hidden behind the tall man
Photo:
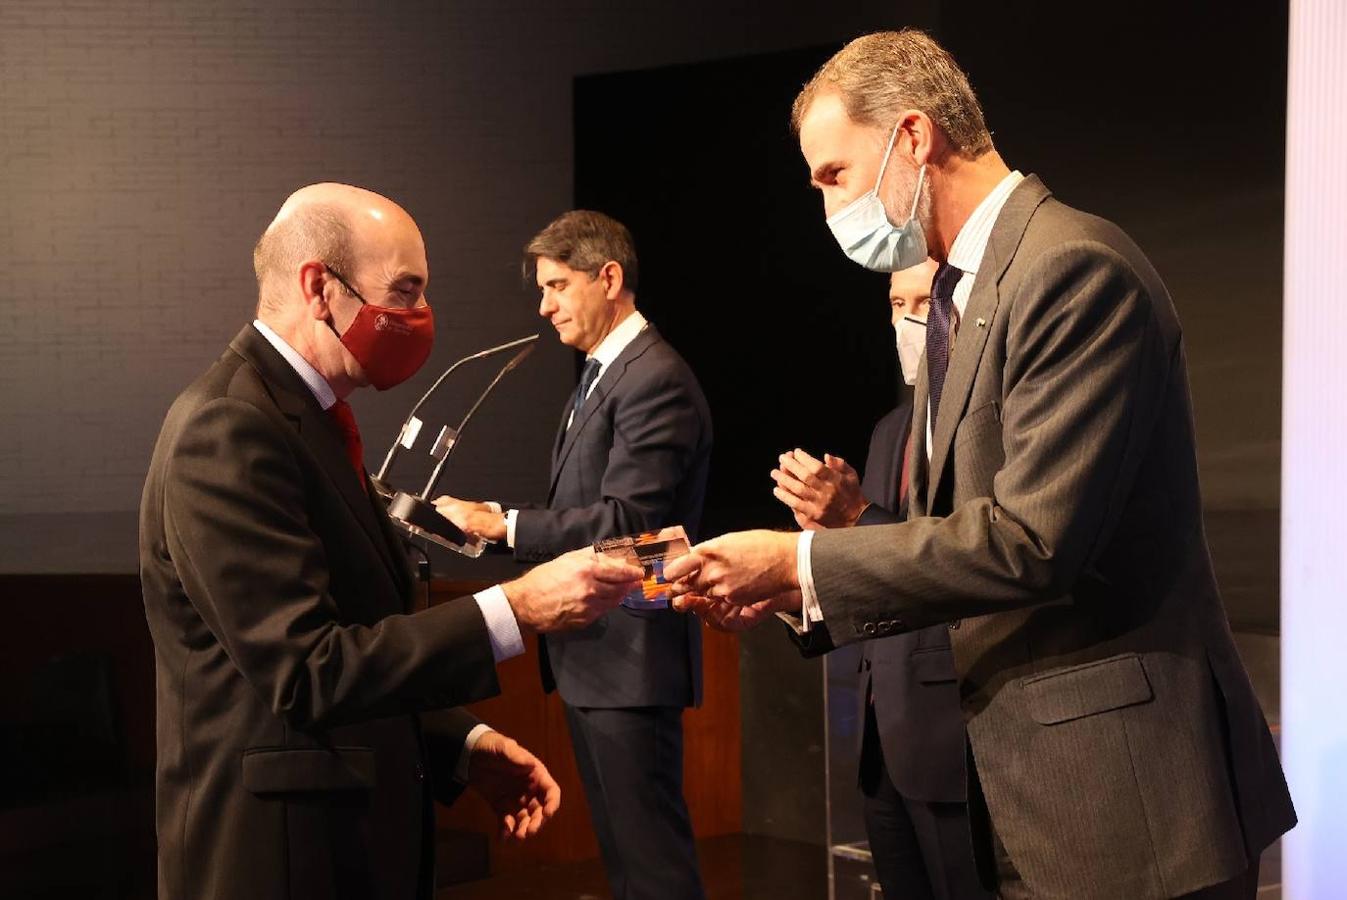
<path fill-rule="evenodd" d="M 912 400 L 904 400 L 874 426 L 861 490 L 870 505 L 858 525 L 901 521 L 897 508 L 902 451 L 912 428 Z M 963 713 L 947 625 L 867 641 L 861 670 L 874 698 L 884 765 L 893 787 L 928 803 L 962 803 L 966 796 Z M 862 718 L 865 721 L 862 709 Z"/>

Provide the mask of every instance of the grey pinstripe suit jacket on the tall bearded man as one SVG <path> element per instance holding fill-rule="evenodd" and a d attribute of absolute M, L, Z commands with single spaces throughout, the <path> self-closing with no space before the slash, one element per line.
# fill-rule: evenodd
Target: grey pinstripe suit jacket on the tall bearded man
<path fill-rule="evenodd" d="M 1037 178 L 962 318 L 909 519 L 820 532 L 819 649 L 951 631 L 978 776 L 1034 896 L 1172 897 L 1294 823 L 1202 523 L 1179 319 L 1117 226 Z"/>

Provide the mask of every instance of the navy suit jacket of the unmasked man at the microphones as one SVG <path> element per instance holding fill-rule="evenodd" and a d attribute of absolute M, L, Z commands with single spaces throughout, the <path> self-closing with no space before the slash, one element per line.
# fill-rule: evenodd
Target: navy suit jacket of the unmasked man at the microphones
<path fill-rule="evenodd" d="M 711 461 L 711 414 L 683 357 L 647 326 L 566 427 L 546 509 L 520 509 L 515 555 L 540 562 L 602 538 L 682 524 L 696 539 Z M 669 609 L 620 606 L 539 641 L 543 684 L 571 706 L 692 706 L 702 699 L 702 625 Z"/>

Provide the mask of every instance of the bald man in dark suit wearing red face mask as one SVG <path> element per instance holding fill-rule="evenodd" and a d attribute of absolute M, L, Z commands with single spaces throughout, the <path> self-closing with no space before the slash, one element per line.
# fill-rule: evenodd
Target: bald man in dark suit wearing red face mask
<path fill-rule="evenodd" d="M 430 897 L 432 799 L 462 784 L 524 838 L 547 768 L 462 710 L 521 629 L 579 628 L 640 570 L 567 554 L 411 613 L 345 397 L 426 361 L 420 232 L 346 185 L 296 191 L 259 240 L 257 318 L 174 403 L 140 513 L 155 641 L 160 897 Z"/>

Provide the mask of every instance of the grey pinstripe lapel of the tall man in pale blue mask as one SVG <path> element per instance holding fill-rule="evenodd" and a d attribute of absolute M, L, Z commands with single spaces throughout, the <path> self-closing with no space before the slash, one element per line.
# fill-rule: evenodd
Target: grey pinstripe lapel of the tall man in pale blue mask
<path fill-rule="evenodd" d="M 973 379 L 978 373 L 982 352 L 991 333 L 991 322 L 1001 303 L 1001 276 L 1014 257 L 1029 217 L 1043 201 L 1049 197 L 1048 189 L 1037 176 L 1025 178 L 1006 198 L 1001 214 L 997 216 L 987 248 L 978 264 L 978 275 L 973 282 L 973 294 L 959 322 L 959 334 L 950 354 L 950 371 L 940 392 L 940 415 L 936 418 L 935 432 L 931 435 L 931 470 L 927 485 L 927 507 L 935 499 L 950 459 L 954 434 L 968 406 L 973 392 Z M 925 404 L 923 404 L 923 408 Z M 923 426 L 924 428 L 924 426 Z"/>

